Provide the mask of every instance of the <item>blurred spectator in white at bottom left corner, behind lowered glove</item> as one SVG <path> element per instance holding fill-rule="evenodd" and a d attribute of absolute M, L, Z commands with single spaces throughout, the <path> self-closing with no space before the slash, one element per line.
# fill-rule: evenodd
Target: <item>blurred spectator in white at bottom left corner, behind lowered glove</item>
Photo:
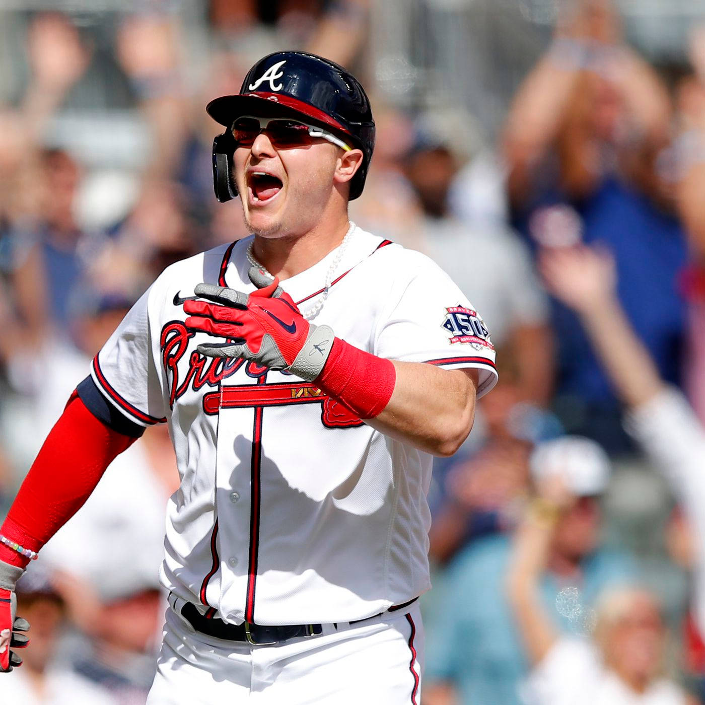
<path fill-rule="evenodd" d="M 17 584 L 17 603 L 31 621 L 30 645 L 20 651 L 23 664 L 4 678 L 3 702 L 25 705 L 117 705 L 101 687 L 74 673 L 64 661 L 61 633 L 66 606 L 39 567 Z"/>

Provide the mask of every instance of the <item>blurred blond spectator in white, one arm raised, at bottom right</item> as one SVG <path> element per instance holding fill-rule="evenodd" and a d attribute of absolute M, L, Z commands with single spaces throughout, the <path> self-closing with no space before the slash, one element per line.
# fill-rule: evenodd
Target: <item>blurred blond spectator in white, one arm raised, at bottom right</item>
<path fill-rule="evenodd" d="M 664 627 L 658 604 L 639 588 L 613 588 L 583 613 L 584 635 L 560 635 L 541 594 L 554 527 L 577 496 L 560 474 L 537 482 L 538 496 L 517 529 L 508 596 L 532 673 L 527 705 L 685 705 L 695 700 L 661 678 Z M 594 628 L 594 639 L 589 640 Z"/>

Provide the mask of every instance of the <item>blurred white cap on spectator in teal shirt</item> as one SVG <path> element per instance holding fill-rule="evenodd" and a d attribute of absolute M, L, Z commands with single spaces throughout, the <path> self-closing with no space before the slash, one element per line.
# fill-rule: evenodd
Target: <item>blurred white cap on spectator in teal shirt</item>
<path fill-rule="evenodd" d="M 539 443 L 529 464 L 534 481 L 563 474 L 570 491 L 578 496 L 601 494 L 611 472 L 610 459 L 602 446 L 583 436 L 562 436 Z"/>

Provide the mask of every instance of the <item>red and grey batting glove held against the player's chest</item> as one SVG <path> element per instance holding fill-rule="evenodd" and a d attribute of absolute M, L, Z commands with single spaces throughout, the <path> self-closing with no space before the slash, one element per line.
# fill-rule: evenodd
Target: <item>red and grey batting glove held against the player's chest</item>
<path fill-rule="evenodd" d="M 329 326 L 307 321 L 291 297 L 257 267 L 248 272 L 257 291 L 245 294 L 225 286 L 199 284 L 195 294 L 207 301 L 187 300 L 189 329 L 228 338 L 226 343 L 202 343 L 208 357 L 243 357 L 269 369 L 286 369 L 313 381 L 323 369 L 333 345 Z"/>

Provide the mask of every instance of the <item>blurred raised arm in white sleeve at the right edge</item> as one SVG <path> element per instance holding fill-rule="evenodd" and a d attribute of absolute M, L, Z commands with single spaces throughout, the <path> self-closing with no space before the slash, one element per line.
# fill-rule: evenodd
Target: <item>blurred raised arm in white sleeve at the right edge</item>
<path fill-rule="evenodd" d="M 610 255 L 587 247 L 545 252 L 549 288 L 580 315 L 591 344 L 627 405 L 627 430 L 669 479 L 692 526 L 693 609 L 705 635 L 705 429 L 678 389 L 665 384 L 615 295 Z M 700 637 L 702 639 L 702 637 Z"/>

